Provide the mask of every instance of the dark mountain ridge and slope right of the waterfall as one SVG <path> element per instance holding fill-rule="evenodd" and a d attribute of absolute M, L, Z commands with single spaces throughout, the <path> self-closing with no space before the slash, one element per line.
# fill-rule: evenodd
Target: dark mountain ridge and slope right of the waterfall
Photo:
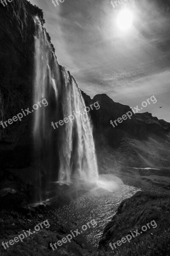
<path fill-rule="evenodd" d="M 131 111 L 130 107 L 114 102 L 106 94 L 98 94 L 93 99 L 84 92 L 82 95 L 86 105 L 96 101 L 100 105 L 99 110 L 90 112 L 99 163 L 106 153 L 106 157 L 108 154 L 116 157 L 117 163 L 123 166 L 170 166 L 170 123 L 146 112 L 133 114 L 131 119 L 128 118 L 113 128 L 111 120 Z M 113 167 L 112 164 L 112 169 Z"/>

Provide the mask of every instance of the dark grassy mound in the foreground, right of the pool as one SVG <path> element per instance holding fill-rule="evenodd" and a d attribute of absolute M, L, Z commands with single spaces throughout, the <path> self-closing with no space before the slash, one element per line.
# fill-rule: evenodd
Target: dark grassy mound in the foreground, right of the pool
<path fill-rule="evenodd" d="M 114 251 L 117 256 L 168 256 L 170 255 L 170 195 L 166 193 L 137 192 L 132 198 L 123 201 L 116 215 L 105 228 L 96 255 L 113 255 L 109 242 L 116 242 L 150 221 L 156 221 L 157 227 L 147 229 L 142 235 L 126 242 Z M 92 254 L 94 255 L 94 254 Z"/>

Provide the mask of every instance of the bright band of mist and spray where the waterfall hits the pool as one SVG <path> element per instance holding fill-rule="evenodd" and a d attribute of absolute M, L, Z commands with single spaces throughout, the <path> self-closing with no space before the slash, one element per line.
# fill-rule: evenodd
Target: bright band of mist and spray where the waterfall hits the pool
<path fill-rule="evenodd" d="M 50 189 L 44 191 L 46 199 L 31 204 L 33 207 L 40 205 L 54 206 L 56 202 L 56 207 L 65 205 L 66 201 L 71 203 L 88 193 L 94 196 L 102 196 L 107 193 L 118 193 L 121 195 L 127 193 L 129 189 L 136 190 L 136 188 L 124 185 L 121 179 L 112 174 L 99 175 L 99 179 L 91 183 L 85 180 L 75 179 L 72 180 L 69 186 L 66 184 L 62 184 L 61 186 L 59 182 L 51 182 L 49 187 Z"/>

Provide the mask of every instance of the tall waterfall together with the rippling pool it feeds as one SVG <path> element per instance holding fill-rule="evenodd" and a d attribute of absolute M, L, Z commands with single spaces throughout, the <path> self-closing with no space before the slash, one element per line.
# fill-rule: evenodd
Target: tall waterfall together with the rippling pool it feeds
<path fill-rule="evenodd" d="M 72 230 L 94 218 L 98 225 L 86 230 L 83 236 L 96 245 L 120 202 L 137 189 L 124 185 L 114 175 L 98 175 L 91 123 L 77 82 L 58 64 L 41 21 L 36 17 L 34 22 L 33 101 L 34 104 L 42 99 L 48 102 L 46 107 L 34 111 L 38 173 L 35 205 L 50 203 L 54 206 L 56 222 Z M 81 115 L 76 117 L 79 111 Z M 75 116 L 72 122 L 52 127 L 51 122 L 69 115 Z"/>

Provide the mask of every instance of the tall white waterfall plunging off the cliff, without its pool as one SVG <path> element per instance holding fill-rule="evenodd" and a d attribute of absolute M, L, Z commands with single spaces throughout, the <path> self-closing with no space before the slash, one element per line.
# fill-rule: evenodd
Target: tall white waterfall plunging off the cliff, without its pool
<path fill-rule="evenodd" d="M 69 184 L 72 180 L 95 182 L 98 169 L 90 119 L 77 82 L 58 64 L 49 36 L 35 18 L 34 104 L 46 99 L 48 106 L 34 111 L 34 147 L 39 170 L 39 196 L 52 181 Z M 80 111 L 80 116 L 78 112 Z M 54 129 L 51 122 L 70 115 L 72 122 Z"/>

